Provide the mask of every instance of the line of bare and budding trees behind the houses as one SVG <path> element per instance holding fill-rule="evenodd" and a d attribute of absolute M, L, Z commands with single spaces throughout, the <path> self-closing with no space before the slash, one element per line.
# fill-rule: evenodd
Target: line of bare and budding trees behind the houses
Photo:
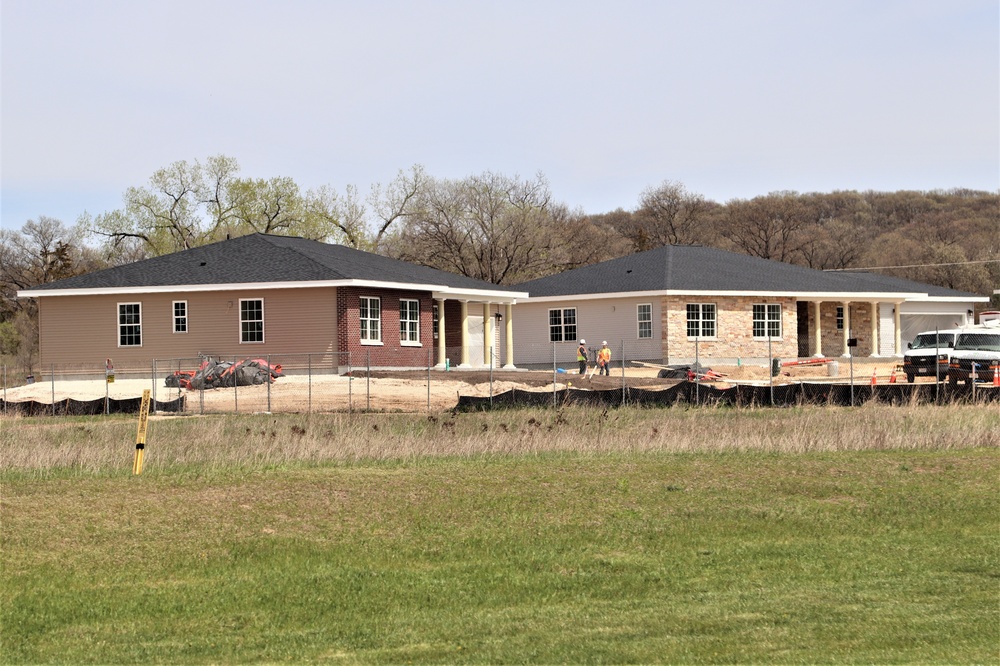
<path fill-rule="evenodd" d="M 30 367 L 37 313 L 17 290 L 251 233 L 376 252 L 497 285 L 670 244 L 698 244 L 819 270 L 874 272 L 991 295 L 1000 285 L 1000 191 L 771 192 L 719 203 L 664 181 L 631 208 L 588 214 L 545 177 L 436 178 L 400 170 L 356 187 L 303 191 L 243 178 L 224 155 L 180 161 L 129 187 L 123 206 L 0 230 L 0 354 Z"/>

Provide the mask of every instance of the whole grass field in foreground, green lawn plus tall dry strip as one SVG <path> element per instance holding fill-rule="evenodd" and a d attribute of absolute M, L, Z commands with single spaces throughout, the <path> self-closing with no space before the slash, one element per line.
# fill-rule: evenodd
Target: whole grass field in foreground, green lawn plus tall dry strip
<path fill-rule="evenodd" d="M 909 433 L 909 434 L 907 434 Z M 998 663 L 1000 413 L 0 421 L 3 663 Z"/>

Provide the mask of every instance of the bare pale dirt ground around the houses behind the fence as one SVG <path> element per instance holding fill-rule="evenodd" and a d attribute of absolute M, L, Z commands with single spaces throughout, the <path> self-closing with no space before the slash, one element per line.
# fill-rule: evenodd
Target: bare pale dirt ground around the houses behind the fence
<path fill-rule="evenodd" d="M 895 363 L 886 360 L 878 366 L 867 364 L 856 368 L 855 382 L 866 383 L 873 369 L 880 381 L 888 381 Z M 711 383 L 725 388 L 733 383 L 768 382 L 768 369 L 757 366 L 712 366 L 724 375 Z M 843 364 L 839 376 L 828 376 L 825 365 L 783 368 L 774 378 L 775 384 L 797 381 L 846 381 Z M 610 376 L 580 376 L 576 373 L 555 373 L 551 370 L 409 370 L 391 372 L 354 372 L 345 375 L 289 375 L 267 385 L 221 388 L 207 391 L 188 391 L 168 388 L 163 379 L 118 379 L 106 384 L 101 379 L 62 380 L 53 384 L 40 381 L 4 389 L 5 400 L 10 402 L 36 401 L 51 404 L 53 400 L 128 399 L 142 396 L 144 389 L 151 389 L 159 402 L 186 399 L 185 410 L 190 413 L 218 412 L 305 412 L 341 410 L 379 411 L 442 411 L 453 408 L 460 396 L 488 397 L 511 389 L 551 393 L 567 387 L 582 390 L 620 389 L 622 382 L 636 388 L 662 389 L 673 386 L 676 379 L 660 379 L 657 367 L 629 367 L 612 369 Z M 867 373 L 867 374 L 866 374 Z M 553 379 L 555 382 L 553 382 Z M 905 381 L 900 378 L 899 381 Z M 155 385 L 154 385 L 155 384 Z"/>

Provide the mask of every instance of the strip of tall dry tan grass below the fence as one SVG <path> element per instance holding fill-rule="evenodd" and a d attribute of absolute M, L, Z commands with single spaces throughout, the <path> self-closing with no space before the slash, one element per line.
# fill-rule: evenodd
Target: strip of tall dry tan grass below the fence
<path fill-rule="evenodd" d="M 0 420 L 0 465 L 34 474 L 131 471 L 125 417 Z M 555 451 L 718 452 L 1000 447 L 1000 410 L 981 406 L 511 410 L 431 416 L 313 414 L 150 420 L 149 472 L 184 465 L 412 460 Z"/>

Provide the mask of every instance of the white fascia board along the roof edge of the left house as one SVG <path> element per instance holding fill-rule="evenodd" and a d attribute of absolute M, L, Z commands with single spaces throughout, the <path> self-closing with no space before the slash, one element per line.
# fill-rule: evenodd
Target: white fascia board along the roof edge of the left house
<path fill-rule="evenodd" d="M 381 282 L 378 280 L 316 280 L 313 282 L 234 282 L 232 284 L 176 284 L 158 287 L 95 287 L 89 289 L 22 289 L 18 298 L 41 298 L 48 296 L 127 296 L 132 294 L 176 294 L 210 291 L 263 291 L 270 289 L 315 289 L 321 287 L 369 287 L 372 289 L 402 289 L 408 291 L 429 291 L 440 293 L 445 298 L 458 298 L 461 294 L 470 299 L 487 297 L 511 300 L 527 296 L 523 292 L 489 291 L 477 289 L 456 289 L 439 284 L 414 284 L 409 282 Z"/>

